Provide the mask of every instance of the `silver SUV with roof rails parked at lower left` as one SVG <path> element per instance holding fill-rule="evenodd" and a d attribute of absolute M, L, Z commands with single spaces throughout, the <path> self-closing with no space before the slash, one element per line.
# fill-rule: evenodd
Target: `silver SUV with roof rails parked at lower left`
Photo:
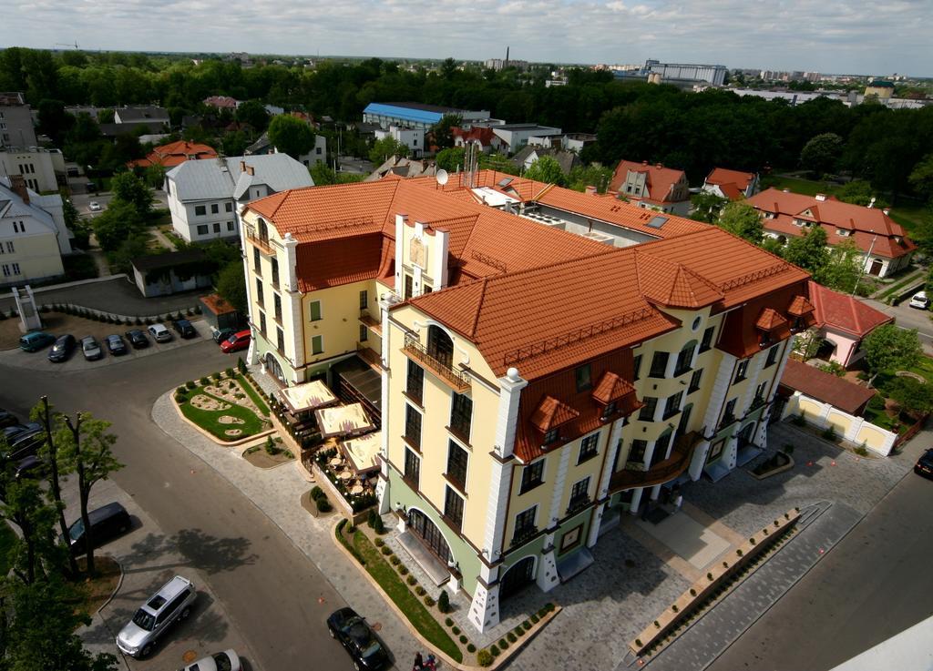
<path fill-rule="evenodd" d="M 132 616 L 132 622 L 120 629 L 117 647 L 137 659 L 146 657 L 172 623 L 188 617 L 197 597 L 193 582 L 175 576 L 149 597 Z"/>

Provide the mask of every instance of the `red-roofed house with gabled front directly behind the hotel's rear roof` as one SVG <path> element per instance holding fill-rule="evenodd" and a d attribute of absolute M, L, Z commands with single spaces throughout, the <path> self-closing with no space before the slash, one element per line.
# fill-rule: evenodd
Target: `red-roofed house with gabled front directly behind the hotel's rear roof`
<path fill-rule="evenodd" d="M 687 174 L 661 163 L 620 160 L 609 182 L 609 190 L 640 208 L 686 216 L 690 212 Z"/>

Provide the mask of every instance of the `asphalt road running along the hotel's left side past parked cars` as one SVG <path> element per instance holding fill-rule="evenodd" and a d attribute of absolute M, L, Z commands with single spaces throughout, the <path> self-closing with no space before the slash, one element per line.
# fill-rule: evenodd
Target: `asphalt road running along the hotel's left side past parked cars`
<path fill-rule="evenodd" d="M 341 596 L 251 501 L 150 418 L 165 390 L 228 365 L 210 342 L 74 373 L 0 365 L 0 406 L 24 415 L 45 393 L 59 410 L 91 411 L 113 422 L 115 451 L 126 464 L 114 481 L 166 535 L 196 531 L 210 539 L 181 551 L 249 642 L 254 671 L 350 669 L 325 624 L 345 605 Z"/>

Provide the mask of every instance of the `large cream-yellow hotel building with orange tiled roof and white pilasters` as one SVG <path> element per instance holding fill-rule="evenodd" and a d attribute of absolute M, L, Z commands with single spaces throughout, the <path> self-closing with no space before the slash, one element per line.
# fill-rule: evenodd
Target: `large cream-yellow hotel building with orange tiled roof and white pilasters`
<path fill-rule="evenodd" d="M 285 191 L 243 221 L 250 363 L 362 405 L 403 559 L 480 631 L 620 515 L 758 456 L 813 323 L 807 274 L 717 226 L 493 171 Z"/>

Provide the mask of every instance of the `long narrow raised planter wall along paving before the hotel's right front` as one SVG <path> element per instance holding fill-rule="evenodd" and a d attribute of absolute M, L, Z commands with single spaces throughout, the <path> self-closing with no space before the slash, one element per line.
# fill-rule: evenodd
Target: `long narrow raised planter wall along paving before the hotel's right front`
<path fill-rule="evenodd" d="M 635 655 L 643 655 L 673 632 L 678 625 L 693 615 L 703 602 L 717 590 L 731 582 L 736 574 L 743 571 L 758 556 L 768 550 L 780 539 L 784 532 L 797 523 L 801 512 L 797 509 L 787 511 L 770 527 L 765 527 L 745 541 L 733 553 L 731 559 L 725 559 L 709 568 L 703 578 L 690 585 L 669 609 L 664 610 L 658 619 L 649 624 L 644 631 L 629 643 L 629 649 Z"/>

